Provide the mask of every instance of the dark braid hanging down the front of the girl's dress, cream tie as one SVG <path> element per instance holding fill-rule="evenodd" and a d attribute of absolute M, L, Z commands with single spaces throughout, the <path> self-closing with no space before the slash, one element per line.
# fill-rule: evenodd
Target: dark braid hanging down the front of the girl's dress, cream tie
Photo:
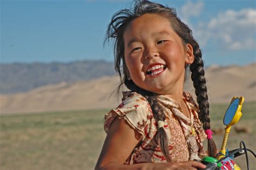
<path fill-rule="evenodd" d="M 164 114 L 164 110 L 163 110 L 163 107 L 160 106 L 158 99 L 156 97 L 156 94 L 141 89 L 136 84 L 134 84 L 132 80 L 125 79 L 124 84 L 128 89 L 135 91 L 139 94 L 142 94 L 142 96 L 144 96 L 147 99 L 147 101 L 149 101 L 151 110 L 153 112 L 153 117 L 156 120 L 156 122 L 158 122 L 159 120 L 165 121 L 166 117 Z M 156 143 L 160 146 L 160 149 L 163 152 L 167 162 L 171 162 L 168 140 L 167 140 L 167 135 L 165 133 L 164 127 L 158 128 L 155 139 L 156 139 Z"/>

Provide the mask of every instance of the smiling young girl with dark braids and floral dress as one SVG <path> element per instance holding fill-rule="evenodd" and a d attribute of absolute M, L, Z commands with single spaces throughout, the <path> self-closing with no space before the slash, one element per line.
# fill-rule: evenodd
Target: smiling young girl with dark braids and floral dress
<path fill-rule="evenodd" d="M 105 115 L 107 137 L 96 169 L 205 168 L 199 161 L 207 155 L 206 137 L 208 155 L 217 152 L 204 64 L 192 31 L 174 9 L 139 1 L 112 17 L 107 38 L 115 39 L 119 89 L 125 84 L 131 91 L 123 92 L 122 104 Z M 198 106 L 183 91 L 188 67 Z"/>

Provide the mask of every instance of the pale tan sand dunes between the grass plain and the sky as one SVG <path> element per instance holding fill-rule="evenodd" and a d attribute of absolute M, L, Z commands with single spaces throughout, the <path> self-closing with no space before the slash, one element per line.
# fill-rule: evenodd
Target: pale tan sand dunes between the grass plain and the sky
<path fill-rule="evenodd" d="M 206 70 L 210 103 L 226 103 L 233 96 L 244 96 L 245 101 L 256 100 L 256 63 L 246 66 L 212 66 Z M 103 77 L 91 81 L 42 86 L 25 93 L 0 96 L 1 113 L 44 112 L 111 108 L 119 103 L 111 93 L 119 78 Z M 185 90 L 193 94 L 191 80 Z"/>

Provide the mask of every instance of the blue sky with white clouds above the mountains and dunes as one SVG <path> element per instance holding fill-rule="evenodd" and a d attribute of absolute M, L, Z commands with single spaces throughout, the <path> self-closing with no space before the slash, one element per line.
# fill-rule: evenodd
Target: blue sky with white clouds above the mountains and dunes
<path fill-rule="evenodd" d="M 206 65 L 256 62 L 256 7 L 251 0 L 154 1 L 176 8 L 190 25 Z M 113 61 L 103 47 L 107 24 L 125 0 L 0 0 L 0 63 Z"/>

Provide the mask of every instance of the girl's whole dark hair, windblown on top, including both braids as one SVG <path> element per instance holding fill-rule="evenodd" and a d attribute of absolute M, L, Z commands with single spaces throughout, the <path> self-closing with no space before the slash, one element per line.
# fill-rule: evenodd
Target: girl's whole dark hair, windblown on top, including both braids
<path fill-rule="evenodd" d="M 135 1 L 134 8 L 123 9 L 118 11 L 111 18 L 111 22 L 107 28 L 106 41 L 111 38 L 114 39 L 114 66 L 115 70 L 118 72 L 120 77 L 120 84 L 117 87 L 117 93 L 120 92 L 120 88 L 125 85 L 128 89 L 142 94 L 148 101 L 152 108 L 154 119 L 156 121 L 165 120 L 165 114 L 163 108 L 161 108 L 156 94 L 146 91 L 138 87 L 132 80 L 129 79 L 127 75 L 127 66 L 124 59 L 124 39 L 123 33 L 127 26 L 136 18 L 146 14 L 154 13 L 169 19 L 172 29 L 181 38 L 182 42 L 185 44 L 191 44 L 193 47 L 194 62 L 190 65 L 190 70 L 192 72 L 191 78 L 193 80 L 194 88 L 196 89 L 197 102 L 199 105 L 199 119 L 203 123 L 204 130 L 210 129 L 210 117 L 209 117 L 209 104 L 206 88 L 206 80 L 204 77 L 204 63 L 201 59 L 202 54 L 198 43 L 192 36 L 191 29 L 180 21 L 177 17 L 176 10 L 163 6 L 158 3 L 153 3 L 150 1 Z M 184 68 L 185 69 L 185 68 Z M 166 138 L 166 133 L 164 128 L 159 128 L 156 134 L 156 140 L 161 148 L 167 161 L 170 161 L 169 148 Z M 217 153 L 216 146 L 213 140 L 208 140 L 208 155 L 214 157 Z"/>

